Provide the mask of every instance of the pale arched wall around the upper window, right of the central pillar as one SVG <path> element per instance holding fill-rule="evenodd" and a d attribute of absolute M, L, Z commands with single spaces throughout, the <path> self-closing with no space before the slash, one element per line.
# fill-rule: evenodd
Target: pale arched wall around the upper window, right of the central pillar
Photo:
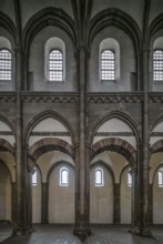
<path fill-rule="evenodd" d="M 116 51 L 118 73 L 115 81 L 112 82 L 99 80 L 99 52 L 103 40 L 109 40 L 108 47 L 110 45 Z M 136 75 L 136 60 L 132 39 L 122 29 L 113 26 L 108 26 L 99 31 L 90 49 L 88 90 L 90 92 L 135 91 L 137 89 Z"/>

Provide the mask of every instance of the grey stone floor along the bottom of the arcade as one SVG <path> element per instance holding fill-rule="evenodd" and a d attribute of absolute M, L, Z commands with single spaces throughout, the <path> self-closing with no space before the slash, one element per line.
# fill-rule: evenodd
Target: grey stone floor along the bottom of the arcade
<path fill-rule="evenodd" d="M 84 242 L 73 236 L 73 226 L 34 225 L 31 235 L 9 237 L 12 226 L 0 224 L 0 243 L 3 244 L 163 244 L 163 225 L 152 227 L 152 237 L 142 237 L 120 225 L 92 226 L 92 235 Z"/>

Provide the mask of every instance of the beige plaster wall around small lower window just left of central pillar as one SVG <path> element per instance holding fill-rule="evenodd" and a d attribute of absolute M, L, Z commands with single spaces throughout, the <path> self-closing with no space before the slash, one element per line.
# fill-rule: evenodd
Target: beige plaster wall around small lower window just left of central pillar
<path fill-rule="evenodd" d="M 49 223 L 74 223 L 74 171 L 69 167 L 70 184 L 60 186 L 60 167 L 57 166 L 49 180 Z"/>

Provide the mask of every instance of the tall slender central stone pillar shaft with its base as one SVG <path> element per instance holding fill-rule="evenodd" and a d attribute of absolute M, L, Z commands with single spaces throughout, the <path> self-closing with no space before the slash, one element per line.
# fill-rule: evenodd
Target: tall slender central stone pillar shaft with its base
<path fill-rule="evenodd" d="M 79 62 L 79 149 L 77 155 L 77 206 L 78 216 L 75 217 L 74 234 L 80 236 L 90 235 L 89 223 L 89 170 L 88 170 L 88 149 L 85 143 L 85 80 L 86 80 L 86 50 L 84 47 L 79 48 L 78 52 Z"/>

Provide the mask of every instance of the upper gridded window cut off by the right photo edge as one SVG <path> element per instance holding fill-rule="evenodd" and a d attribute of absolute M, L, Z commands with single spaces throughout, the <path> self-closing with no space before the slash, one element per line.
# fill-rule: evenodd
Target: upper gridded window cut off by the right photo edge
<path fill-rule="evenodd" d="M 153 52 L 153 80 L 163 81 L 163 50 Z"/>

